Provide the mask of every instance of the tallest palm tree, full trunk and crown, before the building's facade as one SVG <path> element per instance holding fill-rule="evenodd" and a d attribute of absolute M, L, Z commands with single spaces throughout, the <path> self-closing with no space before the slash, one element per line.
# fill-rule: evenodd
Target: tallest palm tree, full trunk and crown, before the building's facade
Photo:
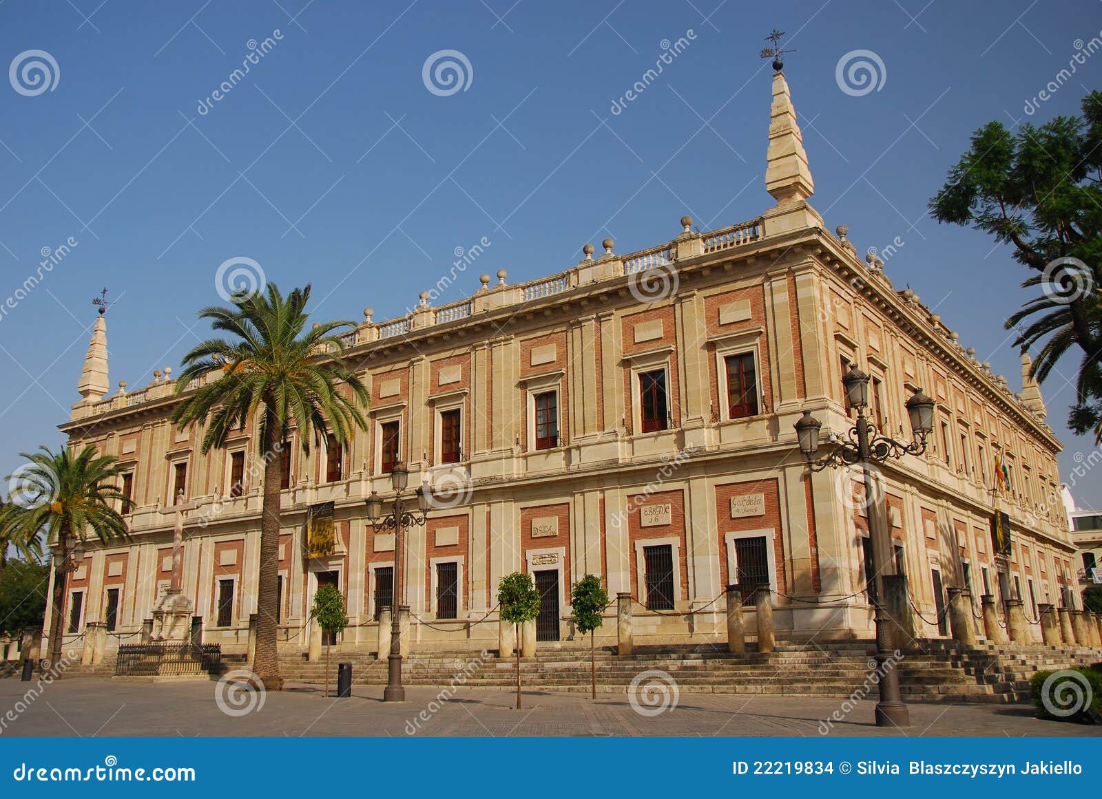
<path fill-rule="evenodd" d="M 283 685 L 276 652 L 283 478 L 283 459 L 277 456 L 292 422 L 304 452 L 310 451 L 311 437 L 316 444 L 323 433 L 331 431 L 343 445 L 354 428 L 367 428 L 360 408 L 369 402 L 368 392 L 345 365 L 344 344 L 336 335 L 353 322 L 329 321 L 305 331 L 309 300 L 309 285 L 284 297 L 269 283 L 267 294 L 234 297 L 233 308 L 201 310 L 201 319 L 210 319 L 212 327 L 229 333 L 231 340 L 208 339 L 184 355 L 176 391 L 184 394 L 193 384 L 197 387 L 172 414 L 177 424 L 206 425 L 204 453 L 223 447 L 226 437 L 242 429 L 249 419 L 259 420 L 264 482 L 252 668 L 269 690 Z"/>

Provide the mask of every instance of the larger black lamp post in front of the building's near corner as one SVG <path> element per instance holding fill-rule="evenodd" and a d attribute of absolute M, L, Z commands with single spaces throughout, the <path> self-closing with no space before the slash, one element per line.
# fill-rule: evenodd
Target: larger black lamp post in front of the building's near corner
<path fill-rule="evenodd" d="M 882 436 L 876 425 L 865 416 L 868 406 L 868 375 L 850 365 L 850 371 L 842 377 L 850 407 L 857 412 L 856 424 L 849 431 L 849 440 L 842 440 L 836 449 L 822 458 L 815 459 L 819 451 L 819 428 L 822 423 L 804 411 L 796 423 L 796 433 L 800 441 L 800 451 L 807 460 L 808 468 L 813 472 L 827 467 L 835 469 L 842 466 L 860 466 L 865 484 L 865 502 L 868 506 L 868 533 L 873 545 L 873 567 L 876 570 L 876 663 L 880 672 L 880 701 L 876 703 L 877 726 L 910 726 L 910 713 L 899 694 L 899 674 L 895 668 L 892 655 L 892 627 L 887 608 L 884 604 L 884 587 L 880 576 L 893 569 L 890 532 L 884 517 L 883 506 L 877 486 L 874 485 L 869 463 L 884 463 L 889 458 L 903 458 L 905 455 L 919 456 L 926 451 L 926 438 L 933 429 L 933 401 L 915 388 L 914 395 L 907 401 L 907 415 L 914 440 L 906 442 Z"/>

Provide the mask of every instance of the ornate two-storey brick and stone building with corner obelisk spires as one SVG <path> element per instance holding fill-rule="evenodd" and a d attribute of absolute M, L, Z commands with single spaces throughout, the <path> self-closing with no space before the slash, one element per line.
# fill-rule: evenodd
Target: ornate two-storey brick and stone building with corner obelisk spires
<path fill-rule="evenodd" d="M 700 233 L 684 218 L 672 241 L 638 252 L 605 241 L 551 277 L 512 285 L 501 270 L 458 303 L 432 307 L 425 293 L 402 318 L 366 313 L 346 357 L 370 387 L 368 429 L 309 457 L 292 436 L 279 456 L 289 474 L 274 612 L 289 647 L 315 636 L 309 608 L 332 582 L 352 617 L 343 644 L 375 648 L 396 552 L 364 501 L 389 494 L 398 460 L 437 492 L 404 552 L 414 649 L 495 642 L 496 585 L 515 570 L 543 593 L 541 641 L 571 635 L 570 587 L 585 573 L 638 600 L 637 642 L 722 635 L 724 587 L 761 581 L 776 592 L 780 637 L 871 636 L 867 512 L 854 475 L 811 473 L 792 427 L 807 409 L 823 422 L 822 449 L 846 434 L 851 362 L 872 375 L 869 414 L 888 434 L 906 425 L 914 388 L 937 401 L 926 455 L 880 470 L 894 568 L 908 577 L 920 631 L 944 635 L 952 585 L 971 588 L 976 612 L 984 593 L 1017 593 L 1034 615 L 1056 601 L 1074 580 L 1074 547 L 1050 499 L 1060 445 L 1028 363 L 1013 394 L 882 263 L 858 259 L 844 228 L 828 231 L 808 201 L 782 74 L 767 158 L 775 204 L 750 221 Z M 61 429 L 126 466 L 133 540 L 89 545 L 68 576 L 66 633 L 89 622 L 117 636 L 141 630 L 172 568 L 173 517 L 160 508 L 182 491 L 198 503 L 183 590 L 205 641 L 244 649 L 258 610 L 258 437 L 245 429 L 202 456 L 198 433 L 169 422 L 171 370 L 109 395 L 106 352 L 99 318 L 83 400 Z M 996 492 L 1003 464 L 1008 488 Z M 1011 519 L 1005 558 L 990 532 L 996 504 Z"/>

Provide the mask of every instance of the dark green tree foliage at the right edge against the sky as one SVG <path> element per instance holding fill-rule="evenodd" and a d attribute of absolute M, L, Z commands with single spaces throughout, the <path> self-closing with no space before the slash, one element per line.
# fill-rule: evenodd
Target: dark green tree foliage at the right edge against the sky
<path fill-rule="evenodd" d="M 988 122 L 929 207 L 940 222 L 1009 244 L 1014 260 L 1033 271 L 1022 285 L 1042 286 L 1044 294 L 1006 327 L 1031 319 L 1015 344 L 1039 346 L 1038 381 L 1072 348 L 1082 352 L 1068 424 L 1102 434 L 1102 92 L 1087 95 L 1081 109 L 1081 117 L 1023 124 L 1014 134 Z"/>

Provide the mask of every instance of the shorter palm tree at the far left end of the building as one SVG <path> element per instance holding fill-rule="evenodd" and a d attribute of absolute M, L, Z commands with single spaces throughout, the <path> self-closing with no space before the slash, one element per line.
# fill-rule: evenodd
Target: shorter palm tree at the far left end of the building
<path fill-rule="evenodd" d="M 50 617 L 50 661 L 54 677 L 61 677 L 62 604 L 69 556 L 83 549 L 88 535 L 102 544 L 129 540 L 130 530 L 121 511 L 128 500 L 111 481 L 122 473 L 114 456 L 99 455 L 91 445 L 75 457 L 67 447 L 52 452 L 21 452 L 28 463 L 8 478 L 17 486 L 14 497 L 0 515 L 0 537 L 26 552 L 34 551 L 44 533 L 54 549 L 54 595 Z"/>

